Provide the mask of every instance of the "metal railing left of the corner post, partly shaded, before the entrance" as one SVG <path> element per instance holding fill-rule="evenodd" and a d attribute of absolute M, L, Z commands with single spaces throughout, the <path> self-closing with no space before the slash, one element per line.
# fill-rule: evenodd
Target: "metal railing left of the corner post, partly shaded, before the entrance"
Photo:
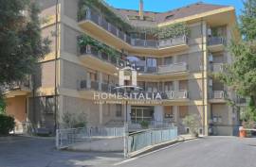
<path fill-rule="evenodd" d="M 118 138 L 124 136 L 124 127 L 66 128 L 56 130 L 56 147 L 66 148 L 92 138 Z"/>

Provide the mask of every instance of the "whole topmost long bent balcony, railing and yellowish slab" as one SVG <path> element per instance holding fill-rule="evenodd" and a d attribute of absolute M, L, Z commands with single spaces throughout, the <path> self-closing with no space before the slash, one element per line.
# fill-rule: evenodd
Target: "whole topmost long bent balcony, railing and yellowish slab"
<path fill-rule="evenodd" d="M 79 25 L 86 32 L 90 32 L 92 35 L 101 38 L 103 42 L 111 43 L 119 49 L 133 51 L 137 54 L 150 54 L 155 51 L 155 54 L 163 55 L 172 51 L 176 52 L 189 48 L 186 36 L 159 41 L 133 39 L 125 32 L 119 30 L 115 25 L 111 25 L 105 21 L 100 14 L 91 9 L 86 10 Z"/>

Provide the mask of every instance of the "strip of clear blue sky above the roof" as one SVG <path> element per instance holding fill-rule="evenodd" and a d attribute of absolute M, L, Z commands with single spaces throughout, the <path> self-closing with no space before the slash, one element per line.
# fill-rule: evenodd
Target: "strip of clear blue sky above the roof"
<path fill-rule="evenodd" d="M 139 0 L 105 0 L 109 5 L 115 8 L 137 9 Z M 167 11 L 174 8 L 181 8 L 199 0 L 144 0 L 144 9 L 149 11 Z M 228 5 L 236 8 L 239 15 L 243 8 L 243 0 L 204 0 L 204 3 L 216 5 Z"/>

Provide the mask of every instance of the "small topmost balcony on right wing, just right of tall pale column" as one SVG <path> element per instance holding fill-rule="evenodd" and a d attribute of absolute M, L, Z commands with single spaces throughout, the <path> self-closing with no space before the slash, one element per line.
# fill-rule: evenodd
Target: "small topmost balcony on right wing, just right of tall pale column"
<path fill-rule="evenodd" d="M 225 49 L 226 38 L 210 37 L 208 38 L 208 48 L 210 52 L 220 52 Z"/>

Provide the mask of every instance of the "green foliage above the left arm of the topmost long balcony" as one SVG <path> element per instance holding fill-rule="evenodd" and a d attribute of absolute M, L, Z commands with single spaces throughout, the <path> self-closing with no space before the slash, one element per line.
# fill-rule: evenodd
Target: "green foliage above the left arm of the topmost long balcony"
<path fill-rule="evenodd" d="M 80 0 L 78 9 L 78 19 L 82 20 L 86 10 L 91 8 L 98 13 L 101 13 L 103 18 L 112 25 L 116 25 L 123 31 L 129 31 L 132 28 L 131 25 L 123 21 L 122 18 L 117 16 L 111 7 L 108 7 L 101 0 Z"/>

